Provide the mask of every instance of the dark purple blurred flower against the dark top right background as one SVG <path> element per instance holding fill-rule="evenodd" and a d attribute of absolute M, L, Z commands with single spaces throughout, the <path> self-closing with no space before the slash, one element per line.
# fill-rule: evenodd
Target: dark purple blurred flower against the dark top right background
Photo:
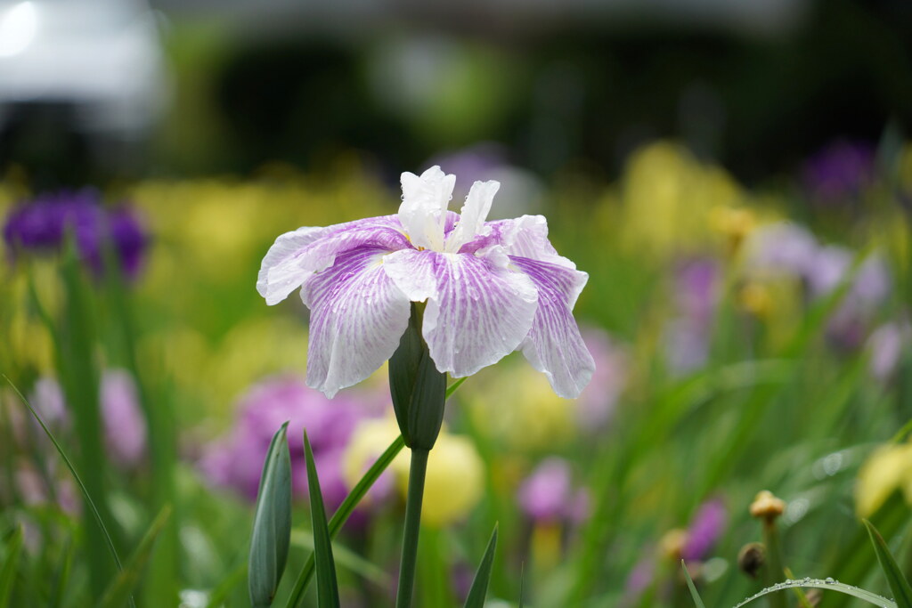
<path fill-rule="evenodd" d="M 838 142 L 807 160 L 803 181 L 815 201 L 845 201 L 857 196 L 875 176 L 875 149 Z"/>

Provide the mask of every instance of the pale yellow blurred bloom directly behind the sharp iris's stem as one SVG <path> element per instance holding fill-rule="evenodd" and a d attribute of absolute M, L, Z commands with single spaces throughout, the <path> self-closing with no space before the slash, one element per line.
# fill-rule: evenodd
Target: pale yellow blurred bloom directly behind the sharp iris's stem
<path fill-rule="evenodd" d="M 358 483 L 358 479 L 397 437 L 399 426 L 395 417 L 361 422 L 342 456 L 342 476 L 346 483 L 349 486 Z M 396 476 L 396 483 L 404 497 L 409 489 L 408 448 L 399 453 L 389 470 Z M 444 527 L 465 518 L 481 500 L 483 486 L 484 466 L 472 441 L 442 428 L 437 443 L 430 450 L 421 522 Z"/>

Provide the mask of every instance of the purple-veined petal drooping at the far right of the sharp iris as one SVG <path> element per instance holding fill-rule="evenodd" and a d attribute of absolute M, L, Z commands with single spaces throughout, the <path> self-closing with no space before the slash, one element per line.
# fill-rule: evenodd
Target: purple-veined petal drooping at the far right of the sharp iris
<path fill-rule="evenodd" d="M 596 370 L 571 312 L 589 275 L 556 263 L 510 257 L 538 288 L 538 310 L 529 335 L 523 341 L 523 355 L 548 376 L 560 397 L 576 398 Z"/>

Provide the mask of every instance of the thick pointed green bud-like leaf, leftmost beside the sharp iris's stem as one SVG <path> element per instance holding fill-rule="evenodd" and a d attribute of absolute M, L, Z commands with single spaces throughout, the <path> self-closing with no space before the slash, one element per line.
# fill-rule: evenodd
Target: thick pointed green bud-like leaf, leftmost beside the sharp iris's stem
<path fill-rule="evenodd" d="M 291 456 L 288 423 L 273 436 L 263 463 L 250 541 L 247 587 L 254 608 L 273 603 L 291 540 Z"/>

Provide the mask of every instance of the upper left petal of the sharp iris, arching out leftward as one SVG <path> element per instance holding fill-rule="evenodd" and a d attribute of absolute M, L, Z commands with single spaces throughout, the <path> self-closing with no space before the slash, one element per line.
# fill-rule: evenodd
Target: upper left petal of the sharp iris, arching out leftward
<path fill-rule="evenodd" d="M 337 254 L 365 246 L 396 251 L 410 245 L 395 215 L 326 228 L 298 228 L 280 236 L 266 252 L 256 290 L 265 298 L 266 304 L 277 304 L 313 273 L 335 263 Z"/>

